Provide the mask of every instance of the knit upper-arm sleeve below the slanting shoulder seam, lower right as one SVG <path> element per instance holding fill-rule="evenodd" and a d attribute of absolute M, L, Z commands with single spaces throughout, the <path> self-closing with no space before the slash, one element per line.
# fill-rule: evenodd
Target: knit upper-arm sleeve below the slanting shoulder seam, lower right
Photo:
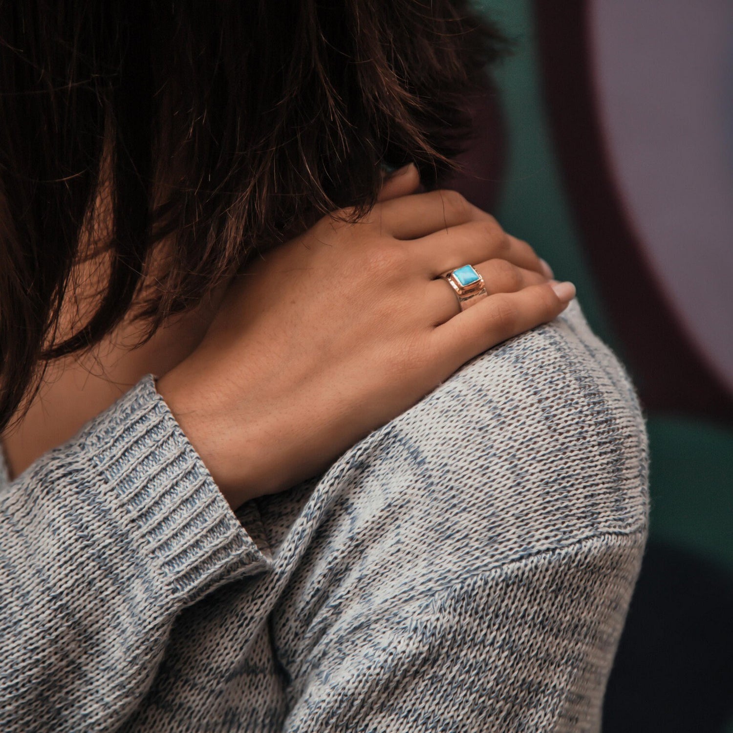
<path fill-rule="evenodd" d="M 646 531 L 593 537 L 323 634 L 284 732 L 597 732 Z"/>

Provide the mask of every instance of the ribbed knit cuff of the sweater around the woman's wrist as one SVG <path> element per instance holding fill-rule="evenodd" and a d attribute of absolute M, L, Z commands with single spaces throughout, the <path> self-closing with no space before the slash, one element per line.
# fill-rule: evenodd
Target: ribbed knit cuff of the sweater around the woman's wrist
<path fill-rule="evenodd" d="M 234 577 L 267 570 L 199 454 L 146 375 L 85 430 L 86 450 L 125 507 L 133 534 L 188 605 Z"/>

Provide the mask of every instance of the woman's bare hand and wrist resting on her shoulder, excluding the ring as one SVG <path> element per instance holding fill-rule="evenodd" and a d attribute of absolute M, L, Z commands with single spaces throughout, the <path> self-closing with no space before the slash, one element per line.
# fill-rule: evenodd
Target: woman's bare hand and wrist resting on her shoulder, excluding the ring
<path fill-rule="evenodd" d="M 325 471 L 575 294 L 463 196 L 418 185 L 410 166 L 358 223 L 324 216 L 248 266 L 199 347 L 158 380 L 232 508 Z M 466 263 L 490 295 L 461 312 L 438 276 Z"/>

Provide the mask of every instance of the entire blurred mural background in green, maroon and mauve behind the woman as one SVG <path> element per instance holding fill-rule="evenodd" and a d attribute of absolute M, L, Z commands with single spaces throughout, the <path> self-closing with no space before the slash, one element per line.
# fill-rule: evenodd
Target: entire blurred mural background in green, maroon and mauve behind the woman
<path fill-rule="evenodd" d="M 604 733 L 733 733 L 733 1 L 474 0 L 514 42 L 454 181 L 578 287 L 647 416 Z"/>

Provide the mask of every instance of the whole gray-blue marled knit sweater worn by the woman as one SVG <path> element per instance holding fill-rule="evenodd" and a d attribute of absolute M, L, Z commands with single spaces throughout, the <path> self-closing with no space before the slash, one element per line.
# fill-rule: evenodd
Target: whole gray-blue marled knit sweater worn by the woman
<path fill-rule="evenodd" d="M 1 482 L 0 730 L 595 731 L 647 514 L 577 301 L 237 515 L 149 375 Z"/>

